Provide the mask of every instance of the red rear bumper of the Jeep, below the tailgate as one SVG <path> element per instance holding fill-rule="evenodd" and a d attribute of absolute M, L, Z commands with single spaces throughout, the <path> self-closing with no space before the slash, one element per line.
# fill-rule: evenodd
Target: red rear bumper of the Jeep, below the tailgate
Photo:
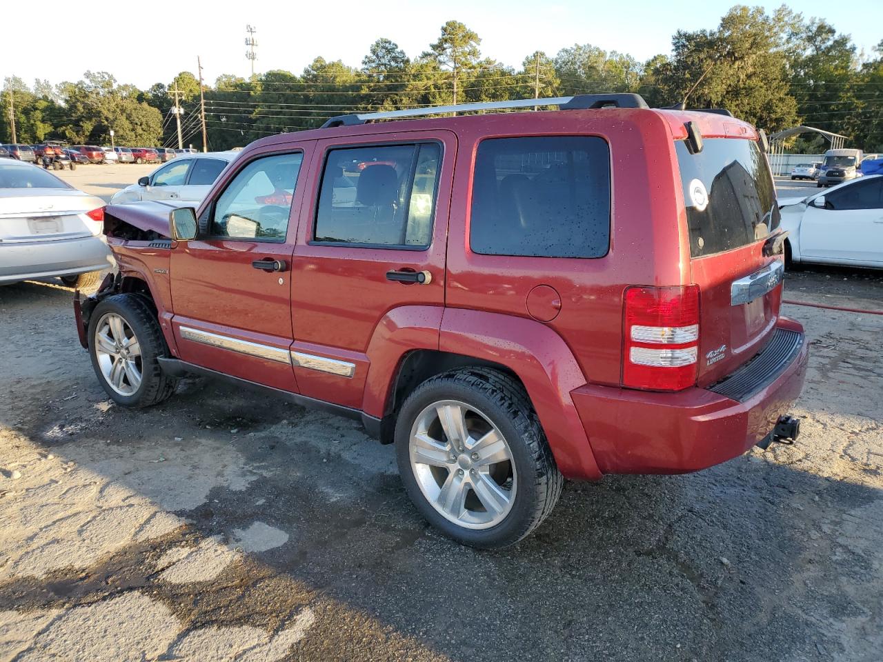
<path fill-rule="evenodd" d="M 803 327 L 781 318 L 779 327 Z M 742 402 L 706 388 L 651 393 L 586 385 L 571 392 L 602 473 L 685 473 L 726 462 L 769 434 L 800 395 L 809 350 Z"/>

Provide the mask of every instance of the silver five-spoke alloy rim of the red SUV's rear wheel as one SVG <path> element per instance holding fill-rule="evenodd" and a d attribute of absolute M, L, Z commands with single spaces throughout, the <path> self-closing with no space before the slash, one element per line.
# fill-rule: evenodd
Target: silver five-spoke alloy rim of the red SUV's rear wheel
<path fill-rule="evenodd" d="M 515 463 L 500 429 L 465 402 L 433 402 L 411 427 L 411 470 L 442 516 L 467 529 L 488 529 L 509 515 Z"/>

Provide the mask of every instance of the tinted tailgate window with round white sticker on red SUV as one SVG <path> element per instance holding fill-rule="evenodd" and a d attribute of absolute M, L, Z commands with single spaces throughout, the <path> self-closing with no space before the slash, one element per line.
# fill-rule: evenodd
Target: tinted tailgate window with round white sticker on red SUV
<path fill-rule="evenodd" d="M 691 257 L 751 244 L 779 227 L 773 177 L 755 140 L 705 139 L 698 154 L 678 140 L 675 149 Z"/>

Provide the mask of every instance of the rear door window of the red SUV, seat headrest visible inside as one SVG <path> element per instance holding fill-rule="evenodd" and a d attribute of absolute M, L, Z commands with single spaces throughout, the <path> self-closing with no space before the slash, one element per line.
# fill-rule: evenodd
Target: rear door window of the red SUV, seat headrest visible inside
<path fill-rule="evenodd" d="M 426 248 L 441 158 L 436 143 L 330 150 L 313 239 Z"/>

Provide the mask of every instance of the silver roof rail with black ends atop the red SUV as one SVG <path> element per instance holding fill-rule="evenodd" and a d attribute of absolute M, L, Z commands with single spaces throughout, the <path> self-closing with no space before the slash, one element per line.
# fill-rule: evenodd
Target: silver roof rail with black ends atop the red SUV
<path fill-rule="evenodd" d="M 555 96 L 545 99 L 515 99 L 508 102 L 458 103 L 455 106 L 429 106 L 405 110 L 384 110 L 379 113 L 356 113 L 331 117 L 321 128 L 366 124 L 379 119 L 399 119 L 403 117 L 423 117 L 442 113 L 464 113 L 472 110 L 502 110 L 531 108 L 533 106 L 558 106 L 562 110 L 598 108 L 649 108 L 640 94 L 576 94 L 575 96 Z"/>

